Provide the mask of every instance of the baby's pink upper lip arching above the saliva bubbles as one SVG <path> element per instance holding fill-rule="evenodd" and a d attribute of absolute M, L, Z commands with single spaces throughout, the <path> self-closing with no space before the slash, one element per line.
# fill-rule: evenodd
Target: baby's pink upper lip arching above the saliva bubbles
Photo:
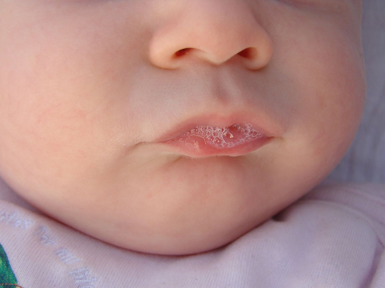
<path fill-rule="evenodd" d="M 174 139 L 196 126 L 207 125 L 213 127 L 229 127 L 237 122 L 250 123 L 254 129 L 266 137 L 280 137 L 283 133 L 281 127 L 258 112 L 235 111 L 231 114 L 204 113 L 184 119 L 179 125 L 170 127 L 166 132 L 152 142 L 163 142 Z"/>

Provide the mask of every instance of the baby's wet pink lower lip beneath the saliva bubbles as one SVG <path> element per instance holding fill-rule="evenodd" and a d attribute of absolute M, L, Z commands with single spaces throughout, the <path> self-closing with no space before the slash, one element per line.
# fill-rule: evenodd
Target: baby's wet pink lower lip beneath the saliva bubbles
<path fill-rule="evenodd" d="M 233 147 L 217 148 L 207 144 L 201 136 L 190 136 L 188 139 L 172 139 L 159 143 L 165 144 L 167 152 L 174 152 L 193 158 L 209 156 L 242 156 L 257 150 L 267 144 L 274 137 L 260 137 L 243 142 Z"/>

